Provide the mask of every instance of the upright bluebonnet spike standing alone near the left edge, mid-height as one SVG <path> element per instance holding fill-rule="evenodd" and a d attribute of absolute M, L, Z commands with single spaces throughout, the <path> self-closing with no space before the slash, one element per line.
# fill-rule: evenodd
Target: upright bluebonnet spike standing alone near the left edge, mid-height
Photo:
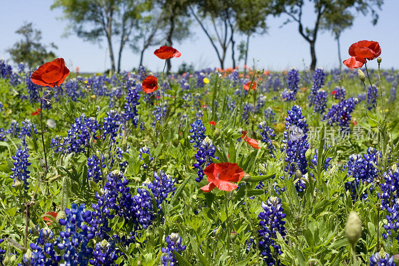
<path fill-rule="evenodd" d="M 12 163 L 14 167 L 11 168 L 11 171 L 14 173 L 10 175 L 10 178 L 14 180 L 14 184 L 16 180 L 23 182 L 25 190 L 28 190 L 29 188 L 28 178 L 30 173 L 30 171 L 27 169 L 27 167 L 30 165 L 27 160 L 29 157 L 27 151 L 28 150 L 26 148 L 23 149 L 22 147 L 19 147 L 16 150 L 15 156 L 12 156 L 12 159 L 14 159 L 15 162 Z"/>

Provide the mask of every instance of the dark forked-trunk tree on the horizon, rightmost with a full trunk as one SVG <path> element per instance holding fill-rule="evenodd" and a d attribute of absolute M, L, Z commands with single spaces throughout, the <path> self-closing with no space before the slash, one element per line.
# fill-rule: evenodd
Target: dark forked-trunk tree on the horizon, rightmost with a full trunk
<path fill-rule="evenodd" d="M 314 26 L 309 28 L 304 27 L 302 14 L 304 7 L 304 0 L 272 0 L 270 5 L 270 12 L 274 15 L 280 15 L 285 13 L 288 15 L 288 19 L 284 24 L 291 21 L 298 23 L 298 31 L 301 36 L 309 43 L 310 55 L 312 62 L 310 68 L 314 70 L 316 68 L 316 51 L 315 44 L 317 39 L 317 34 L 321 28 L 321 23 L 325 19 L 326 14 L 333 14 L 337 12 L 351 12 L 355 9 L 366 15 L 369 11 L 372 13 L 373 23 L 377 23 L 378 14 L 375 7 L 381 9 L 383 0 L 309 0 L 313 5 L 316 19 Z"/>

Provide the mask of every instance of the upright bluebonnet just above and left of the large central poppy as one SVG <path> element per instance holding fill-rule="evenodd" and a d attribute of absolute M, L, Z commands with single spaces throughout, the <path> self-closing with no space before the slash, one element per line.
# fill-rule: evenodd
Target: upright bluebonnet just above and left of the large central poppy
<path fill-rule="evenodd" d="M 219 157 L 215 157 L 215 151 L 216 148 L 212 141 L 208 137 L 205 137 L 198 147 L 197 153 L 194 155 L 197 159 L 197 163 L 193 165 L 198 169 L 198 178 L 196 178 L 197 182 L 200 182 L 203 178 L 203 169 L 212 163 L 211 158 L 219 159 Z"/>

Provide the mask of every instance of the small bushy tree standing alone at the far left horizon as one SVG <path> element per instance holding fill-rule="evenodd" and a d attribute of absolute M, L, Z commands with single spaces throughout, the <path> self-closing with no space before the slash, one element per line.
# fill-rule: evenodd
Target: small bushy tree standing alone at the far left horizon
<path fill-rule="evenodd" d="M 56 57 L 54 52 L 47 51 L 47 47 L 41 44 L 41 31 L 33 28 L 32 22 L 24 22 L 15 33 L 22 35 L 22 39 L 7 49 L 14 63 L 24 62 L 31 69 Z M 57 49 L 54 43 L 48 46 Z"/>

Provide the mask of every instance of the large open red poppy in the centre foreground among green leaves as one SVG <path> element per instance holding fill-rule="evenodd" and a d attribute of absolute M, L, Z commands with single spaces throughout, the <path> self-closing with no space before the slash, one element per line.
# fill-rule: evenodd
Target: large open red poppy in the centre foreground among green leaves
<path fill-rule="evenodd" d="M 201 188 L 204 192 L 209 192 L 214 188 L 223 191 L 232 191 L 237 189 L 238 186 L 231 182 L 240 182 L 244 176 L 244 170 L 242 170 L 238 164 L 227 162 L 212 163 L 203 170 L 203 173 L 206 175 L 206 180 L 209 182 L 209 184 Z"/>

